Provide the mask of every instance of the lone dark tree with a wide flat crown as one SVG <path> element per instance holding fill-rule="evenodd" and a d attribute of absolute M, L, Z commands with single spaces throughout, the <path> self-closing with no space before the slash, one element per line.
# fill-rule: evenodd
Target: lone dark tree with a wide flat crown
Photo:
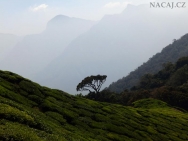
<path fill-rule="evenodd" d="M 99 93 L 102 84 L 106 81 L 106 77 L 106 75 L 88 76 L 77 85 L 76 90 L 89 91 L 91 93 L 91 88 L 95 91 L 95 93 Z"/>

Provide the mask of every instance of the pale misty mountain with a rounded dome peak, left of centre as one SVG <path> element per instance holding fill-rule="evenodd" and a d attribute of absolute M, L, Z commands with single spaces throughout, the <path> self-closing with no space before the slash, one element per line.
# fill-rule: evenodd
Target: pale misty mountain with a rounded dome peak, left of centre
<path fill-rule="evenodd" d="M 2 61 L 2 68 L 31 78 L 93 24 L 93 21 L 58 15 L 48 22 L 41 34 L 25 36 Z"/>

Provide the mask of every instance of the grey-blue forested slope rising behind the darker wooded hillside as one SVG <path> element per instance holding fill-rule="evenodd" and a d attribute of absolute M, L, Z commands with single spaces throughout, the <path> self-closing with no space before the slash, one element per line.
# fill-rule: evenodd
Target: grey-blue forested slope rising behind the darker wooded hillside
<path fill-rule="evenodd" d="M 118 93 L 125 89 L 130 89 L 138 84 L 139 79 L 144 74 L 156 73 L 162 69 L 164 63 L 175 63 L 183 56 L 188 56 L 188 34 L 166 46 L 160 53 L 155 54 L 146 63 L 143 63 L 126 77 L 112 83 L 108 89 Z"/>

